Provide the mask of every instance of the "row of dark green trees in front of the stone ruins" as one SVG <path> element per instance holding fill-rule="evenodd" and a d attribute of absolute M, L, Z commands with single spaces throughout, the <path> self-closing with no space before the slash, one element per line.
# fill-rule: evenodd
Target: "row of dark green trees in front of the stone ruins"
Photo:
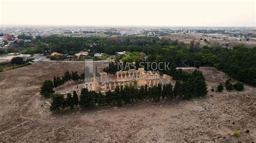
<path fill-rule="evenodd" d="M 80 91 L 79 96 L 77 96 L 76 91 L 73 91 L 73 95 L 67 94 L 66 97 L 53 94 L 50 109 L 51 111 L 58 111 L 67 107 L 73 109 L 77 105 L 82 109 L 93 109 L 97 105 L 121 106 L 123 103 L 130 104 L 136 101 L 159 102 L 165 99 L 171 101 L 172 99 L 187 100 L 204 97 L 207 94 L 207 87 L 201 71 L 195 70 L 188 76 L 190 76 L 189 80 L 184 78 L 177 81 L 174 87 L 171 83 L 158 84 L 158 86 L 150 88 L 147 85 L 139 88 L 126 85 L 124 89 L 117 87 L 114 91 L 109 90 L 105 95 L 102 92 L 88 91 L 86 88 Z"/>

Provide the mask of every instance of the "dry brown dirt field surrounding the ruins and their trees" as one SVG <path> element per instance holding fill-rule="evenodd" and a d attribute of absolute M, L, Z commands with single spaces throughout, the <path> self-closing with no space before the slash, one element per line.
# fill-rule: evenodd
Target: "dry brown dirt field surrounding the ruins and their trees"
<path fill-rule="evenodd" d="M 212 92 L 228 78 L 216 69 L 201 69 L 208 85 L 206 98 L 52 114 L 39 89 L 44 80 L 62 76 L 67 69 L 82 73 L 83 63 L 39 62 L 0 73 L 0 141 L 256 140 L 256 88 L 245 85 L 241 92 Z M 241 132 L 240 138 L 234 137 L 235 131 Z"/>

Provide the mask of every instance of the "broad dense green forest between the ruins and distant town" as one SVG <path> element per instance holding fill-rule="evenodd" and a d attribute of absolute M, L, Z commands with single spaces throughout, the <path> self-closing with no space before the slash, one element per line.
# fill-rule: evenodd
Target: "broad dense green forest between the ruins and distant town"
<path fill-rule="evenodd" d="M 228 49 L 218 43 L 201 46 L 194 41 L 185 44 L 166 38 L 129 36 L 114 38 L 50 36 L 42 38 L 41 41 L 49 44 L 51 51 L 60 53 L 72 54 L 85 49 L 90 49 L 91 53 L 100 52 L 109 55 L 114 55 L 117 51 L 144 52 L 147 55 L 146 62 L 170 62 L 171 69 L 161 72 L 173 77 L 176 67 L 216 67 L 239 81 L 256 86 L 256 47 L 247 48 L 245 44 L 238 44 Z M 137 62 L 136 59 L 134 62 Z M 112 73 L 114 70 L 109 68 L 106 71 Z"/>

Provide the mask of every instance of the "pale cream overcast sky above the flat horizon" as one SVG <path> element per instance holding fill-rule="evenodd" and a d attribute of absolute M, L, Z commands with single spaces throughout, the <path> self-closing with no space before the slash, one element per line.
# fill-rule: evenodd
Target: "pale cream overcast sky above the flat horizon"
<path fill-rule="evenodd" d="M 250 26 L 255 1 L 0 0 L 1 25 Z"/>

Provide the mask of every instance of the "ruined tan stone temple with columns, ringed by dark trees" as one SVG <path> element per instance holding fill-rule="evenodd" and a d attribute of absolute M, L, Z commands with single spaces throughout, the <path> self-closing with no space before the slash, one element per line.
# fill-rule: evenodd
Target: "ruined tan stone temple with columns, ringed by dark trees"
<path fill-rule="evenodd" d="M 88 90 L 109 91 L 116 89 L 117 86 L 123 88 L 127 85 L 137 85 L 148 87 L 157 86 L 159 83 L 159 74 L 152 71 L 145 71 L 144 68 L 138 70 L 120 70 L 116 75 L 107 75 L 100 73 L 99 81 L 93 76 L 92 82 L 85 83 L 85 88 Z"/>

